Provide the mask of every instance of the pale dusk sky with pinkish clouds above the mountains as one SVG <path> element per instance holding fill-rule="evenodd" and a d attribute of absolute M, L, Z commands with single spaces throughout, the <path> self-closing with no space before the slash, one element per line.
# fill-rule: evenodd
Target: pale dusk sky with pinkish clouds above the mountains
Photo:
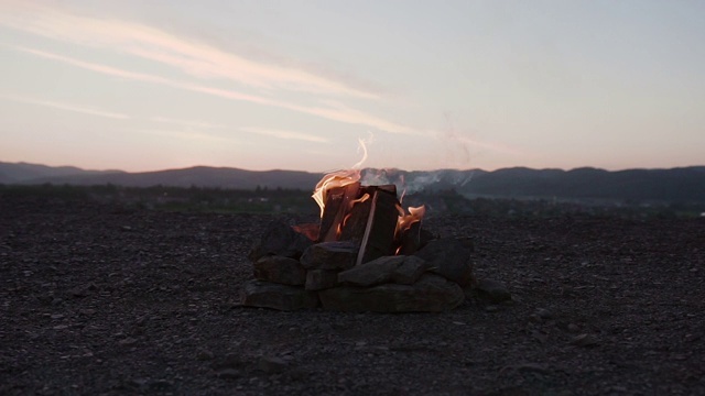
<path fill-rule="evenodd" d="M 705 1 L 0 0 L 0 161 L 705 165 Z"/>

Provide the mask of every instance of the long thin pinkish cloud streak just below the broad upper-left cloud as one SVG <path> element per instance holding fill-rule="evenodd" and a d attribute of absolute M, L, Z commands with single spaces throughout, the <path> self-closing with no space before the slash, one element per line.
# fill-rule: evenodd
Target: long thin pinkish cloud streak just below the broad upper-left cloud
<path fill-rule="evenodd" d="M 212 96 L 226 98 L 226 99 L 241 100 L 241 101 L 248 101 L 248 102 L 253 102 L 253 103 L 263 105 L 263 106 L 288 109 L 296 112 L 321 117 L 321 118 L 333 120 L 333 121 L 370 127 L 370 128 L 375 128 L 389 133 L 401 133 L 401 134 L 411 134 L 411 135 L 425 134 L 414 129 L 384 120 L 382 118 L 376 117 L 370 113 L 366 113 L 364 111 L 352 109 L 350 107 L 347 107 L 343 103 L 335 102 L 335 101 L 328 101 L 326 107 L 311 107 L 311 106 L 295 105 L 292 102 L 270 99 L 262 96 L 242 94 L 231 89 L 214 88 L 214 87 L 208 87 L 200 84 L 172 80 L 161 76 L 124 70 L 124 69 L 116 68 L 112 66 L 96 64 L 91 62 L 85 62 L 85 61 L 76 59 L 73 57 L 50 53 L 46 51 L 10 46 L 10 45 L 6 45 L 6 46 L 12 47 L 17 51 L 25 52 L 28 54 L 65 63 L 68 65 L 73 65 L 87 70 L 91 70 L 91 72 L 96 72 L 96 73 L 100 73 L 100 74 L 105 74 L 113 77 L 126 78 L 126 79 L 131 79 L 137 81 L 143 81 L 143 82 L 152 82 L 152 84 L 158 84 L 162 86 L 167 86 L 171 88 L 200 92 L 200 94 L 212 95 Z"/>

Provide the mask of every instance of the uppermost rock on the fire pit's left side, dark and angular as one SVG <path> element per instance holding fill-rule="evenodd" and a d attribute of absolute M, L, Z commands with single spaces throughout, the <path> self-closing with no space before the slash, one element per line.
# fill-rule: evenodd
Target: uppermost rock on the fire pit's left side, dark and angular
<path fill-rule="evenodd" d="M 299 258 L 313 244 L 306 235 L 280 220 L 274 220 L 254 244 L 248 257 L 256 263 L 265 255 Z"/>

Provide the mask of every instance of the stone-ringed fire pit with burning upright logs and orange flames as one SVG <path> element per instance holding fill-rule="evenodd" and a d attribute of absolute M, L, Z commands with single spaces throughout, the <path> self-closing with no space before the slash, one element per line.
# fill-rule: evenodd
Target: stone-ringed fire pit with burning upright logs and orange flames
<path fill-rule="evenodd" d="M 245 306 L 410 312 L 463 302 L 474 284 L 471 242 L 434 238 L 422 227 L 425 208 L 405 211 L 394 185 L 364 186 L 359 170 L 343 170 L 313 198 L 319 223 L 273 221 L 253 246 Z"/>

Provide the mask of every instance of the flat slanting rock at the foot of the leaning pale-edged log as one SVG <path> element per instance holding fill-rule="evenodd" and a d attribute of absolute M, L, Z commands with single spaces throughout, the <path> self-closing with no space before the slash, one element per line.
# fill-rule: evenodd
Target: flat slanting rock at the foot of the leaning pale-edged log
<path fill-rule="evenodd" d="M 338 282 L 360 287 L 383 283 L 411 285 L 427 267 L 426 262 L 416 256 L 382 256 L 341 272 Z"/>

